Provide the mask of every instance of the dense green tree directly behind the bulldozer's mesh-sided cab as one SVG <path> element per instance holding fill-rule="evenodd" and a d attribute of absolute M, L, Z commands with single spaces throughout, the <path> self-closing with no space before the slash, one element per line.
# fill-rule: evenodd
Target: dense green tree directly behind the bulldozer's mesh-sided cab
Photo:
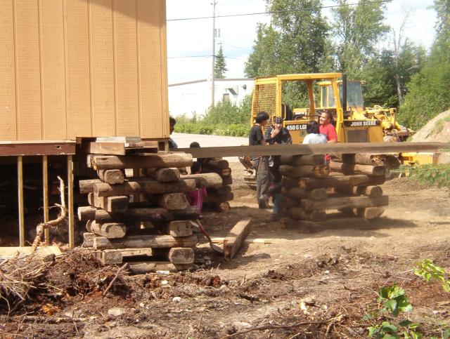
<path fill-rule="evenodd" d="M 319 72 L 329 29 L 320 7 L 321 0 L 266 0 L 271 22 L 258 25 L 245 74 Z"/>

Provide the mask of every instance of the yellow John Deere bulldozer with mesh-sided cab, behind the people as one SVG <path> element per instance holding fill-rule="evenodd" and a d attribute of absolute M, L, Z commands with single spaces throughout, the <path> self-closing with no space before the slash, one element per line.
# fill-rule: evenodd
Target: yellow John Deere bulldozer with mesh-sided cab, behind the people
<path fill-rule="evenodd" d="M 356 81 L 353 83 L 356 84 Z M 271 119 L 283 117 L 283 126 L 290 131 L 293 143 L 302 143 L 307 135 L 308 121 L 319 122 L 321 113 L 328 110 L 334 117 L 338 142 L 383 142 L 380 121 L 368 119 L 364 114 L 361 114 L 361 119 L 354 119 L 354 114 L 349 114 L 347 95 L 345 91 L 339 90 L 339 86 L 342 88 L 341 73 L 283 74 L 256 78 L 250 124 L 254 123 L 258 112 L 267 112 Z M 351 88 L 354 91 L 350 94 L 350 103 L 354 107 L 364 107 L 361 84 L 351 85 Z M 293 98 L 300 100 L 295 102 Z M 316 102 L 316 98 L 321 98 L 320 102 Z M 346 108 L 343 109 L 343 106 Z"/>

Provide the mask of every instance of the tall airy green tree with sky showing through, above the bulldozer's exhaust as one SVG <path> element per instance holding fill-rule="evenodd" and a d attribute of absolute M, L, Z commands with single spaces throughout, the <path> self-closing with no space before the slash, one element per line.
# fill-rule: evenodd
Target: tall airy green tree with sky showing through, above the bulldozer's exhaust
<path fill-rule="evenodd" d="M 389 27 L 383 24 L 386 3 L 361 3 L 348 6 L 348 0 L 337 0 L 333 8 L 333 37 L 338 69 L 349 79 L 358 79 L 376 53 L 376 44 Z"/>

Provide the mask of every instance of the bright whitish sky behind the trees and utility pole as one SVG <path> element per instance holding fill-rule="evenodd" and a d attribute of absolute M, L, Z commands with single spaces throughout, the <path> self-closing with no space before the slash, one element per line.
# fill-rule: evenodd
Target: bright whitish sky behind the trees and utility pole
<path fill-rule="evenodd" d="M 266 11 L 265 0 L 215 0 L 216 15 L 261 13 Z M 358 2 L 358 0 L 350 1 Z M 210 79 L 212 72 L 212 19 L 177 20 L 212 16 L 212 0 L 167 0 L 167 56 L 169 84 L 198 79 Z M 323 0 L 332 6 L 333 0 Z M 387 4 L 385 22 L 397 32 L 405 13 L 409 13 L 404 34 L 418 45 L 429 48 L 435 35 L 435 11 L 432 0 L 392 0 Z M 329 17 L 330 10 L 323 14 Z M 216 18 L 216 50 L 224 49 L 227 78 L 243 78 L 244 64 L 252 51 L 258 22 L 270 22 L 270 16 L 245 15 Z M 380 41 L 385 46 L 389 41 Z M 380 45 L 381 46 L 381 45 Z M 206 57 L 205 57 L 206 56 Z M 194 58 L 186 58 L 194 57 Z"/>

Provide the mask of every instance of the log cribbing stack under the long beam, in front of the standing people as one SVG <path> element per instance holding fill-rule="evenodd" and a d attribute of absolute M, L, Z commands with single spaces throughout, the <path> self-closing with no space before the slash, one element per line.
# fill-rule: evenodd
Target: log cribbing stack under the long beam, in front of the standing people
<path fill-rule="evenodd" d="M 347 158 L 347 154 L 343 154 L 339 159 L 352 159 L 353 163 L 331 161 L 329 166 L 319 154 L 282 156 L 281 194 L 286 208 L 283 222 L 286 225 L 320 224 L 330 220 L 327 211 L 338 210 L 342 214 L 333 219 L 333 223 L 361 225 L 383 214 L 382 206 L 387 205 L 388 197 L 383 195 L 379 185 L 385 182 L 385 166 L 354 162 L 362 161 L 363 157 L 359 156 L 363 155 Z"/>

